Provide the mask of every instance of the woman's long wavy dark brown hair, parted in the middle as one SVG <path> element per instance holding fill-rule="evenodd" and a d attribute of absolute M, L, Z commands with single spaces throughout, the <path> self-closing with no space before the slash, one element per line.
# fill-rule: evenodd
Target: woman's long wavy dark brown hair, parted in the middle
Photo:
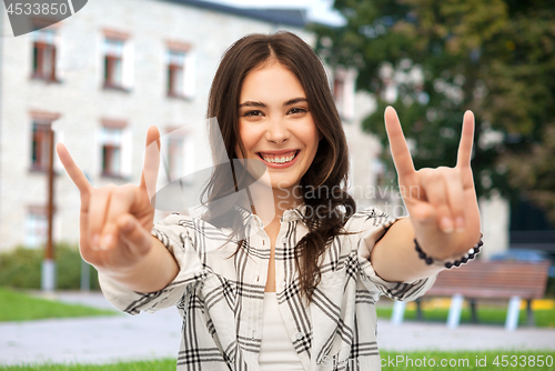
<path fill-rule="evenodd" d="M 213 146 L 212 151 L 214 158 L 221 161 L 238 159 L 236 144 L 244 153 L 239 134 L 241 88 L 249 72 L 268 61 L 279 62 L 299 79 L 314 123 L 322 134 L 316 156 L 301 180 L 306 210 L 319 212 L 305 213 L 304 222 L 309 233 L 295 245 L 300 292 L 310 302 L 314 288 L 321 280 L 319 259 L 330 241 L 344 233 L 343 227 L 354 213 L 355 203 L 346 192 L 347 146 L 327 77 L 320 58 L 301 38 L 284 31 L 270 36 L 250 34 L 225 51 L 212 82 L 208 107 L 208 117 L 218 120 L 218 126 L 212 121 L 214 124 L 211 131 L 215 133 L 218 130 L 221 133 L 224 148 Z M 235 172 L 236 168 L 235 166 Z M 206 200 L 233 194 L 241 189 L 239 178 L 242 177 L 235 176 L 234 184 L 230 184 L 229 177 L 214 171 L 204 190 Z M 229 203 L 232 202 L 230 199 Z M 231 204 L 220 203 L 220 210 L 209 210 L 210 219 L 218 224 L 219 215 L 224 210 L 229 211 L 229 207 Z M 322 215 L 325 217 L 321 218 Z M 243 243 L 238 244 L 238 251 Z"/>

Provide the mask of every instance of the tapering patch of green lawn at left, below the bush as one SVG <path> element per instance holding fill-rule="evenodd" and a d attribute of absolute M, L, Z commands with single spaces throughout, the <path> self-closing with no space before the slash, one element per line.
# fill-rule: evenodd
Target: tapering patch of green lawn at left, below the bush
<path fill-rule="evenodd" d="M 113 315 L 117 311 L 68 304 L 30 297 L 23 292 L 0 288 L 0 322 L 30 321 L 51 318 Z"/>

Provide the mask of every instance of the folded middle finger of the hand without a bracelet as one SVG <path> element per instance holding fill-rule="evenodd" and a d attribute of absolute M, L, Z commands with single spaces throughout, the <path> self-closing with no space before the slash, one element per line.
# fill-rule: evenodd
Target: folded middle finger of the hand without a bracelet
<path fill-rule="evenodd" d="M 135 190 L 135 186 L 125 184 L 114 188 L 111 192 L 105 221 L 100 232 L 99 247 L 102 250 L 109 250 L 117 245 L 119 233 L 118 220 L 121 215 L 129 213 L 133 204 Z"/>

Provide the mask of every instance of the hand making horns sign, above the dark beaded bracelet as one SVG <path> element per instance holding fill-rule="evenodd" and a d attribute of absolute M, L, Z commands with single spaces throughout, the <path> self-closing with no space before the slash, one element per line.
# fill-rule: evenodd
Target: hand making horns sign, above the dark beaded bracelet
<path fill-rule="evenodd" d="M 398 117 L 385 110 L 385 127 L 400 191 L 421 248 L 435 259 L 458 259 L 481 237 L 480 211 L 471 169 L 474 114 L 466 111 L 454 168 L 415 170 Z"/>

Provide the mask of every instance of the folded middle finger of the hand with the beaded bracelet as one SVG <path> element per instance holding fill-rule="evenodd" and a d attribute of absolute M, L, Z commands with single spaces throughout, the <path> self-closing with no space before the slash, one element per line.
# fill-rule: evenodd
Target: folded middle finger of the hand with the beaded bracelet
<path fill-rule="evenodd" d="M 447 197 L 447 184 L 444 177 L 437 169 L 422 169 L 418 172 L 427 201 L 435 210 L 437 225 L 440 225 L 443 232 L 451 233 L 454 229 L 454 223 Z"/>

